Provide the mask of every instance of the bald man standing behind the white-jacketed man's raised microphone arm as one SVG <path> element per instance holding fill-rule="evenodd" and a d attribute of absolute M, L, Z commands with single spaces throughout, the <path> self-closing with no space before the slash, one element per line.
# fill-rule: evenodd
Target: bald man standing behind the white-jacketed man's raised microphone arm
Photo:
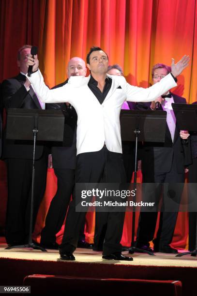
<path fill-rule="evenodd" d="M 68 79 L 71 76 L 85 76 L 86 71 L 86 64 L 83 59 L 75 57 L 69 60 L 67 67 Z M 62 87 L 68 82 L 68 79 L 53 89 Z M 58 188 L 46 216 L 40 243 L 47 249 L 57 249 L 56 233 L 60 231 L 64 222 L 75 185 L 77 115 L 75 109 L 69 103 L 48 104 L 48 109 L 62 110 L 65 116 L 65 125 L 62 146 L 52 147 L 51 151 L 53 168 L 58 179 Z M 57 145 L 59 146 L 60 143 Z M 84 227 L 82 234 L 83 231 Z M 88 247 L 88 245 L 84 239 L 84 247 Z"/>

